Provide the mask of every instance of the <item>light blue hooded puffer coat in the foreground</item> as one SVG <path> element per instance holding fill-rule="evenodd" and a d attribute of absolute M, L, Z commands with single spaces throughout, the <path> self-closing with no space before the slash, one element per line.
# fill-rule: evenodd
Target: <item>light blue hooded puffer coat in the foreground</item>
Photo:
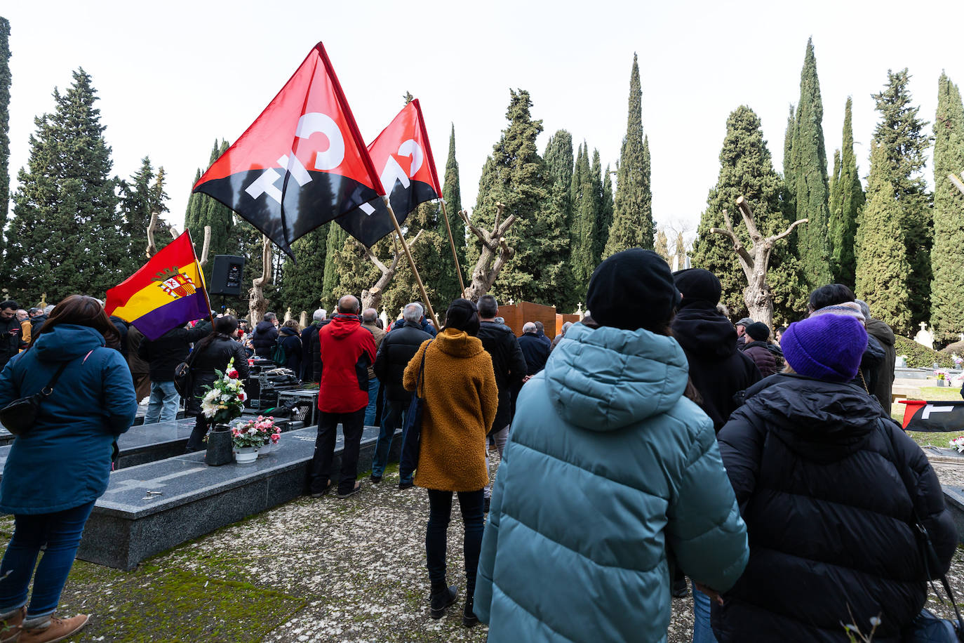
<path fill-rule="evenodd" d="M 475 587 L 490 643 L 664 640 L 667 548 L 736 582 L 746 525 L 686 378 L 672 337 L 576 324 L 522 387 Z"/>

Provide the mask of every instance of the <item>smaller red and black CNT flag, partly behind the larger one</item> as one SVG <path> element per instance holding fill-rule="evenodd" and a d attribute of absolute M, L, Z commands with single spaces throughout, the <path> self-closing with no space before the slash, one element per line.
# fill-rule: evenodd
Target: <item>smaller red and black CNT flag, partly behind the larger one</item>
<path fill-rule="evenodd" d="M 368 146 L 368 153 L 375 167 L 382 168 L 382 187 L 389 195 L 399 224 L 418 203 L 442 196 L 417 98 L 403 107 Z M 381 199 L 364 203 L 335 221 L 366 248 L 395 229 Z"/>

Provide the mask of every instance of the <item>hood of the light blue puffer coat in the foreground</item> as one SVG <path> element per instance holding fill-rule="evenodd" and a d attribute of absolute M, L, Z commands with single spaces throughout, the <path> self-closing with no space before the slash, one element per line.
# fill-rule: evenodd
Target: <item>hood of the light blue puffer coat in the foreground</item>
<path fill-rule="evenodd" d="M 671 409 L 683 395 L 689 367 L 673 337 L 576 324 L 543 372 L 563 419 L 614 431 Z"/>

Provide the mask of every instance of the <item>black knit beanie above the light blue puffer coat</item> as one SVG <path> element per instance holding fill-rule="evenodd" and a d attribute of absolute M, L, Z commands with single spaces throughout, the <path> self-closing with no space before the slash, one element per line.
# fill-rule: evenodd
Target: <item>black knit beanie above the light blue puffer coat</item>
<path fill-rule="evenodd" d="M 655 329 L 679 305 L 669 264 L 641 248 L 616 253 L 597 266 L 586 295 L 586 306 L 600 326 L 626 331 Z"/>

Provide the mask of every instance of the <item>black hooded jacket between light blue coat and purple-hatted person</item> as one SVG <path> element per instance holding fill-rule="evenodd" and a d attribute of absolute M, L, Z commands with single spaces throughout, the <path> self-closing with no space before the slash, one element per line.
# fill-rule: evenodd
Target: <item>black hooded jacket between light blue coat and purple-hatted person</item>
<path fill-rule="evenodd" d="M 673 336 L 689 362 L 689 379 L 700 391 L 700 408 L 717 431 L 739 404 L 734 395 L 758 382 L 757 365 L 736 350 L 736 329 L 705 300 L 684 299 L 673 319 Z"/>

